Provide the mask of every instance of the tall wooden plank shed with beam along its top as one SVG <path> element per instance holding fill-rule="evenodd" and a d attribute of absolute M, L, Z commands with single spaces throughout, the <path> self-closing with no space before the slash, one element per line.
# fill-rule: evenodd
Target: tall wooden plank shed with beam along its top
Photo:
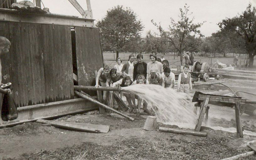
<path fill-rule="evenodd" d="M 12 83 L 20 107 L 72 100 L 73 74 L 79 85 L 95 85 L 103 66 L 93 19 L 0 8 L 0 36 L 11 42 L 1 57 L 3 83 Z"/>

